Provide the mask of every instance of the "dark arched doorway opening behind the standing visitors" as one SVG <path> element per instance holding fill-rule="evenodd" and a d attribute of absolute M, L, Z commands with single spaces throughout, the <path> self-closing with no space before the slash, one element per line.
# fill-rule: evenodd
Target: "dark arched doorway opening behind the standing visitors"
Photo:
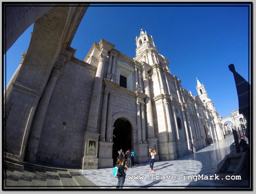
<path fill-rule="evenodd" d="M 124 153 L 128 149 L 132 149 L 132 125 L 125 118 L 116 119 L 114 122 L 113 130 L 113 151 L 112 158 L 114 165 L 116 164 L 116 158 L 118 157 L 118 151 L 123 150 Z"/>

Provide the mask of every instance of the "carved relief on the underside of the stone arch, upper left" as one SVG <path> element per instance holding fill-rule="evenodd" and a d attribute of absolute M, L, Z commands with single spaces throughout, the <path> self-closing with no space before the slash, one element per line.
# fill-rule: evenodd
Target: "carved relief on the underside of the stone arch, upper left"
<path fill-rule="evenodd" d="M 44 17 L 41 19 L 41 28 L 40 30 L 43 30 L 48 33 L 50 36 L 55 36 L 55 30 L 59 26 L 59 18 L 54 17 L 50 14 L 45 14 Z"/>

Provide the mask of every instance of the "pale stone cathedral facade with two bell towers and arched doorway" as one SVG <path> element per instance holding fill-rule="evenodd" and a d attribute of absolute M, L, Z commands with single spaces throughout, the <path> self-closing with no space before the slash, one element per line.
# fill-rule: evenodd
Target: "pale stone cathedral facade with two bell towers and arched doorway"
<path fill-rule="evenodd" d="M 156 160 L 175 160 L 223 140 L 204 85 L 197 79 L 196 96 L 182 88 L 143 29 L 136 45 L 132 59 L 101 39 L 84 61 L 69 47 L 59 54 L 41 94 L 24 87 L 32 83 L 25 77 L 30 55 L 23 53 L 18 79 L 7 89 L 7 105 L 13 102 L 6 124 L 7 140 L 14 142 L 9 143 L 9 161 L 19 157 L 35 164 L 96 169 L 112 167 L 120 149 L 133 149 L 135 162 L 146 163 L 149 148 L 157 150 Z M 36 109 L 18 112 L 18 100 L 29 106 L 26 95 L 30 104 L 33 96 L 38 99 Z"/>

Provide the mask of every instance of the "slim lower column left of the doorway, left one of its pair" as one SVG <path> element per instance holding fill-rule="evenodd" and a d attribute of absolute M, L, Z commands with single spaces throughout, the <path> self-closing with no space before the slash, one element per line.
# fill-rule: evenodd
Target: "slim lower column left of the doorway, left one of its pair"
<path fill-rule="evenodd" d="M 106 116 L 107 116 L 107 104 L 108 104 L 109 91 L 104 91 L 102 113 L 101 113 L 101 125 L 100 125 L 100 141 L 105 141 L 106 133 Z"/>

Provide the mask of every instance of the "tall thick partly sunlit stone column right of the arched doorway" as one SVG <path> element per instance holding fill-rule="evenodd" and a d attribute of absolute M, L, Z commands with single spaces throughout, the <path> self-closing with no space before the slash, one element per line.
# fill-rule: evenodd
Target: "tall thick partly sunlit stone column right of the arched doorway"
<path fill-rule="evenodd" d="M 143 77 L 145 94 L 147 94 L 147 97 L 145 98 L 146 114 L 147 114 L 147 138 L 155 138 L 153 115 L 152 115 L 151 95 L 150 95 L 148 80 L 149 80 L 148 76 Z"/>

